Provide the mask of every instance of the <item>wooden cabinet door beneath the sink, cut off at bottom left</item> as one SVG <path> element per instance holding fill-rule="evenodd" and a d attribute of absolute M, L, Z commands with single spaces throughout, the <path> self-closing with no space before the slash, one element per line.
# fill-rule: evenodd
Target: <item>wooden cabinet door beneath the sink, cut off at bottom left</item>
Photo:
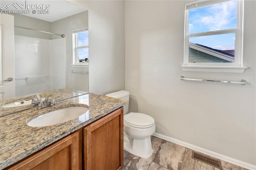
<path fill-rule="evenodd" d="M 78 170 L 79 133 L 75 132 L 22 160 L 8 170 Z M 81 155 L 82 156 L 82 155 Z"/>

